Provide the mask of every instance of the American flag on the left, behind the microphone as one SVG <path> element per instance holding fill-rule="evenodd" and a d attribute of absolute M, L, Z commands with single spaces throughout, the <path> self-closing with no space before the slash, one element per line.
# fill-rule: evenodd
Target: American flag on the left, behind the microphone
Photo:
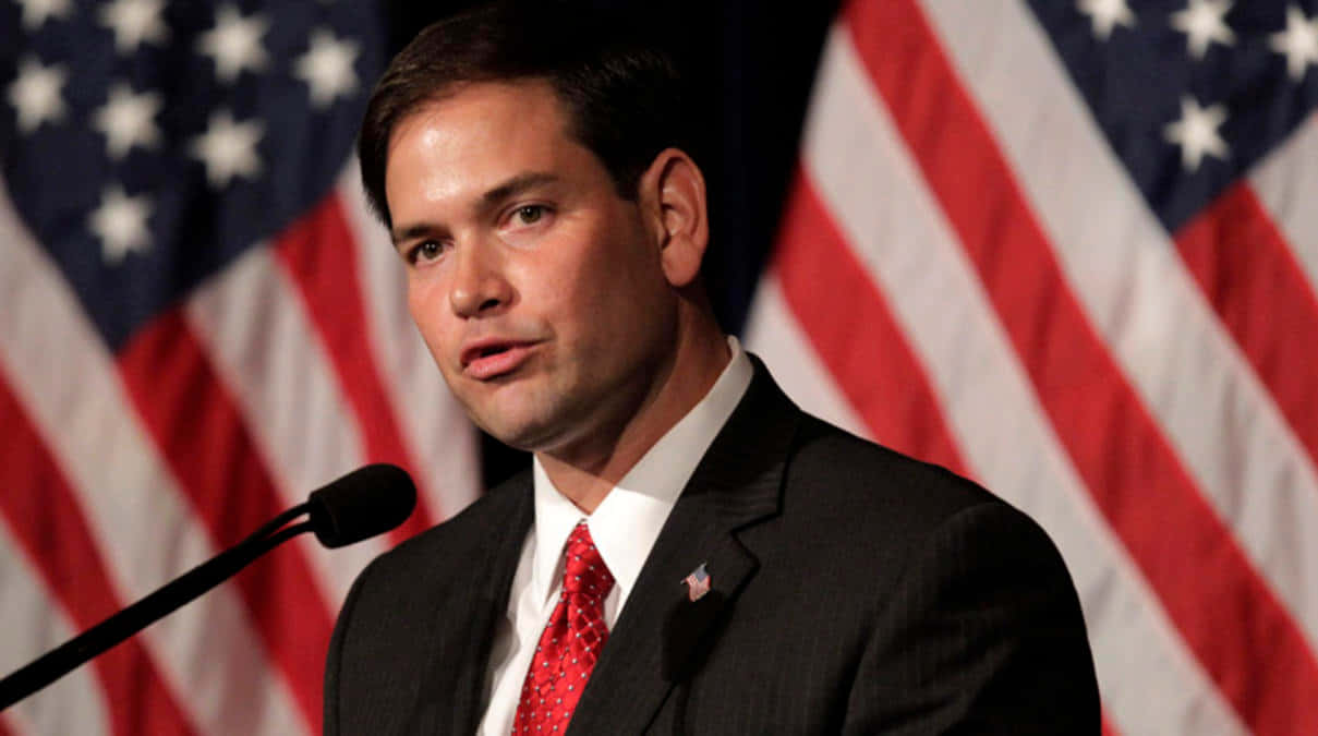
<path fill-rule="evenodd" d="M 360 567 L 477 492 L 351 162 L 372 3 L 0 0 L 0 674 L 368 462 L 390 539 L 304 538 L 0 733 L 314 733 Z"/>

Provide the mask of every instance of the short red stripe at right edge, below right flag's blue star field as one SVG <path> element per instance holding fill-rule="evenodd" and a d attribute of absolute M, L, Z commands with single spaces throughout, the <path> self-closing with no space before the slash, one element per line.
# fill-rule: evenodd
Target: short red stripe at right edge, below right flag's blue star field
<path fill-rule="evenodd" d="M 1243 181 L 1176 235 L 1209 303 L 1318 462 L 1318 298 Z"/>

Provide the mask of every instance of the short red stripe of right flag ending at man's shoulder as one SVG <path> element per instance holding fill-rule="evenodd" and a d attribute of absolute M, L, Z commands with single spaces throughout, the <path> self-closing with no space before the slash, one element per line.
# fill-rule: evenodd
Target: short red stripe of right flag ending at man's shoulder
<path fill-rule="evenodd" d="M 801 170 L 772 269 L 815 352 L 874 439 L 965 475 L 924 369 Z"/>

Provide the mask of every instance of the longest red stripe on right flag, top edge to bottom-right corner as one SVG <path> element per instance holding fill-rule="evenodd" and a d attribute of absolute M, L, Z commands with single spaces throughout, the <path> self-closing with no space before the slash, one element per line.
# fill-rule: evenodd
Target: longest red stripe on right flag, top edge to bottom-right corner
<path fill-rule="evenodd" d="M 1058 438 L 1186 644 L 1255 732 L 1314 732 L 1318 662 L 1304 634 L 1199 496 L 1069 291 L 920 9 L 911 0 L 851 3 L 847 20 Z"/>

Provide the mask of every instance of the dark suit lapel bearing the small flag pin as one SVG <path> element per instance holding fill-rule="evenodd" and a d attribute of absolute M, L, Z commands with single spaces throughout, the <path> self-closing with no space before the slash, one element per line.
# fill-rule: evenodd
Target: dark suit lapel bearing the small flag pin
<path fill-rule="evenodd" d="M 735 532 L 778 513 L 800 412 L 751 356 L 755 377 L 673 506 L 609 636 L 568 733 L 639 733 L 699 669 L 758 562 Z M 683 579 L 705 563 L 710 591 Z"/>

